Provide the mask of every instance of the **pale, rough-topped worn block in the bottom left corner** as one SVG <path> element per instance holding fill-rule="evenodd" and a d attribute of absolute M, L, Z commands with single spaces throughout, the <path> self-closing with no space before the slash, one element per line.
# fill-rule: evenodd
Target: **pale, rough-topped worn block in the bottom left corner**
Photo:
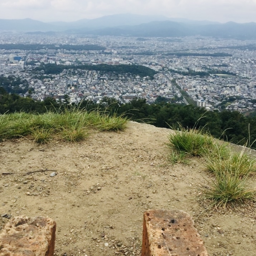
<path fill-rule="evenodd" d="M 53 256 L 55 230 L 50 218 L 14 217 L 0 233 L 0 256 Z"/>

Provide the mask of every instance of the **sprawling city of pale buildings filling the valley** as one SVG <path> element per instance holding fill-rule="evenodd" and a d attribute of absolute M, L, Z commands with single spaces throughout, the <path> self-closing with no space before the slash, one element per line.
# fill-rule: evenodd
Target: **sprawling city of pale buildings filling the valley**
<path fill-rule="evenodd" d="M 1 86 L 35 100 L 109 97 L 153 103 L 161 96 L 208 110 L 250 112 L 256 109 L 255 43 L 201 36 L 1 33 Z"/>

